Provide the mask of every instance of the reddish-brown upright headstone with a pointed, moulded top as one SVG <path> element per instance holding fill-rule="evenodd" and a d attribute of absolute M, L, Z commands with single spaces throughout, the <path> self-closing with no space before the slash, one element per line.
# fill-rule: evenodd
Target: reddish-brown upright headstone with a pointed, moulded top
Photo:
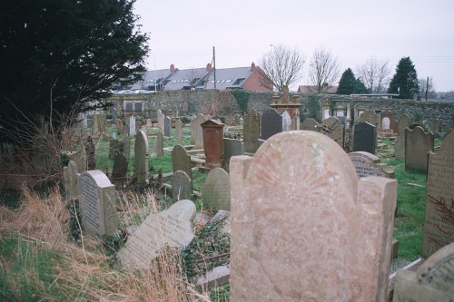
<path fill-rule="evenodd" d="M 203 153 L 205 154 L 205 167 L 222 167 L 224 160 L 224 141 L 222 122 L 209 120 L 202 122 Z"/>

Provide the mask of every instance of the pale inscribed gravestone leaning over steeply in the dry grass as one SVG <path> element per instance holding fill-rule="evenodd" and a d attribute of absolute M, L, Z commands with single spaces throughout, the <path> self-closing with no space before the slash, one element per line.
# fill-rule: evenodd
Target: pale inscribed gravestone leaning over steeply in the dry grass
<path fill-rule="evenodd" d="M 159 214 L 150 214 L 120 249 L 117 260 L 126 268 L 149 268 L 165 247 L 183 248 L 191 243 L 194 217 L 191 200 L 180 200 Z"/>

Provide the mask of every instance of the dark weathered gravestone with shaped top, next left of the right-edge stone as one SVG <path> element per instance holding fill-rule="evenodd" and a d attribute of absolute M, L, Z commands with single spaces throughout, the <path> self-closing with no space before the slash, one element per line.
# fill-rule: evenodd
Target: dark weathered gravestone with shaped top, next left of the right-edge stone
<path fill-rule="evenodd" d="M 427 172 L 428 153 L 433 151 L 433 134 L 425 132 L 420 126 L 414 130 L 405 129 L 405 170 Z"/>

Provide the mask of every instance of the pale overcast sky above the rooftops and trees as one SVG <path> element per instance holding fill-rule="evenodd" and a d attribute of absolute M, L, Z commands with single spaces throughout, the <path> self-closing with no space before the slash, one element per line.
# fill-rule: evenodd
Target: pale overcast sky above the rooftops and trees
<path fill-rule="evenodd" d="M 150 34 L 147 68 L 191 69 L 249 66 L 270 44 L 314 49 L 338 57 L 341 72 L 353 72 L 368 58 L 389 60 L 392 76 L 410 56 L 419 78 L 433 78 L 438 92 L 454 90 L 453 0 L 137 0 L 142 32 Z"/>

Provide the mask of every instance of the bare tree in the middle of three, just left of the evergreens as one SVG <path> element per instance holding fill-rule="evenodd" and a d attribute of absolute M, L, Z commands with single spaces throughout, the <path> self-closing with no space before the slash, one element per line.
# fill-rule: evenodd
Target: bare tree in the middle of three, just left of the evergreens
<path fill-rule="evenodd" d="M 314 93 L 325 93 L 338 82 L 340 74 L 341 67 L 337 57 L 323 47 L 314 51 L 309 67 L 309 80 Z"/>

